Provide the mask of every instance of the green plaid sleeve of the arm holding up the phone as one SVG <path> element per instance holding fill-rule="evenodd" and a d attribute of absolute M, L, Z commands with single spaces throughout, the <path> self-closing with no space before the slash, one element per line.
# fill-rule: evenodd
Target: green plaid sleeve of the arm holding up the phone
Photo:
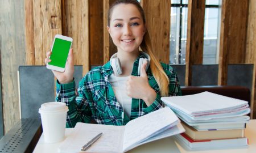
<path fill-rule="evenodd" d="M 56 83 L 56 101 L 64 102 L 68 106 L 67 128 L 74 128 L 77 122 L 90 122 L 92 113 L 82 87 L 75 90 L 75 81 L 67 84 Z M 88 94 L 88 93 L 87 93 Z"/>

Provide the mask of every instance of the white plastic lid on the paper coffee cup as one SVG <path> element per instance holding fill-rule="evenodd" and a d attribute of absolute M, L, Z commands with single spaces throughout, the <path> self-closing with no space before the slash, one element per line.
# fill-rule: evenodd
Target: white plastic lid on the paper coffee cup
<path fill-rule="evenodd" d="M 68 107 L 65 103 L 62 102 L 49 102 L 44 103 L 39 108 L 39 113 L 41 112 L 66 112 Z"/>

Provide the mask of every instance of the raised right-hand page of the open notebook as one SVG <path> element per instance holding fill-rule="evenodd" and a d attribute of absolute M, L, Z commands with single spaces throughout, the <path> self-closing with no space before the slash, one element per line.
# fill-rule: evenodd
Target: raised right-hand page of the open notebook
<path fill-rule="evenodd" d="M 144 141 L 163 128 L 167 129 L 170 128 L 170 126 L 175 126 L 177 121 L 179 121 L 179 119 L 168 107 L 131 120 L 125 126 L 123 150 L 127 150 L 127 148 L 133 146 L 135 143 Z"/>

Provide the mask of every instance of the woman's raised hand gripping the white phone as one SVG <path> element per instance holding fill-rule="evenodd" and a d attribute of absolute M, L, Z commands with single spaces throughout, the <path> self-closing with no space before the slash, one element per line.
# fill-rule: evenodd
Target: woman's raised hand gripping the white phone
<path fill-rule="evenodd" d="M 51 62 L 51 59 L 49 59 L 49 56 L 51 56 L 52 52 L 46 53 L 46 59 L 44 59 L 44 62 L 47 64 L 48 62 Z M 59 80 L 59 83 L 71 83 L 73 81 L 73 73 L 74 73 L 74 63 L 73 63 L 73 49 L 69 50 L 68 53 L 68 60 L 65 65 L 65 71 L 59 72 L 52 70 L 52 73 L 54 76 Z"/>

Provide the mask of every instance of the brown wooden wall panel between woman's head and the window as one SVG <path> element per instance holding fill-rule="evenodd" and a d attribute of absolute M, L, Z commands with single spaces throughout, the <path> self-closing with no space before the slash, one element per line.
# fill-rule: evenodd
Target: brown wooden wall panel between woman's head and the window
<path fill-rule="evenodd" d="M 151 36 L 155 55 L 164 63 L 169 63 L 170 55 L 170 14 L 171 1 L 142 1 L 146 15 L 146 25 Z"/>

